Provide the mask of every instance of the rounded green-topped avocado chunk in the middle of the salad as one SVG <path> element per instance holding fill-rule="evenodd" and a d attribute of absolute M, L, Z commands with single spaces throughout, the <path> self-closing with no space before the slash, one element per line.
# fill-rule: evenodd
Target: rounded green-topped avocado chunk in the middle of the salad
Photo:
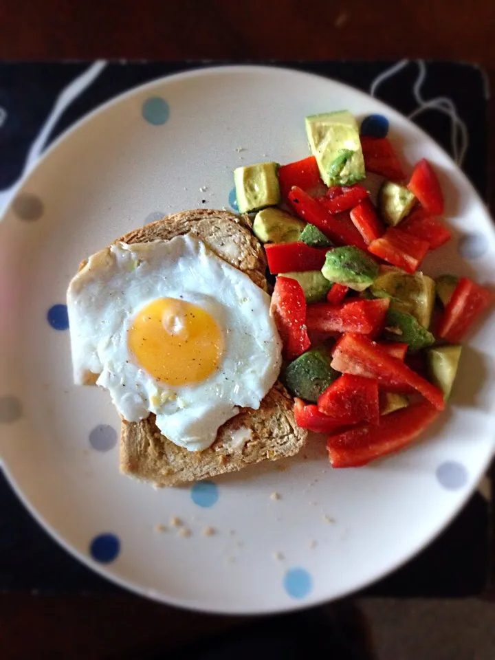
<path fill-rule="evenodd" d="M 378 266 L 364 250 L 344 245 L 327 252 L 322 273 L 330 282 L 338 282 L 354 291 L 364 291 L 373 284 Z"/>

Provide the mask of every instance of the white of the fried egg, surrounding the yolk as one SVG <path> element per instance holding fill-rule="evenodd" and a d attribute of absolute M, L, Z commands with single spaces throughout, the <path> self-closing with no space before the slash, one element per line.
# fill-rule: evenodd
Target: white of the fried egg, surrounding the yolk
<path fill-rule="evenodd" d="M 225 348 L 201 382 L 168 386 L 137 363 L 127 331 L 156 298 L 199 305 L 217 321 Z M 209 447 L 239 407 L 259 408 L 281 368 L 270 296 L 193 236 L 115 243 L 91 256 L 67 292 L 74 381 L 106 388 L 127 421 L 156 415 L 159 430 L 191 451 Z"/>

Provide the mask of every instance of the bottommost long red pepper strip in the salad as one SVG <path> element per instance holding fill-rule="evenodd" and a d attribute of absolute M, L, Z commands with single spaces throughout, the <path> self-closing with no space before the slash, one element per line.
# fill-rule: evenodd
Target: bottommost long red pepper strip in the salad
<path fill-rule="evenodd" d="M 336 432 L 327 439 L 332 467 L 360 467 L 406 447 L 437 418 L 439 411 L 420 401 L 369 423 Z"/>

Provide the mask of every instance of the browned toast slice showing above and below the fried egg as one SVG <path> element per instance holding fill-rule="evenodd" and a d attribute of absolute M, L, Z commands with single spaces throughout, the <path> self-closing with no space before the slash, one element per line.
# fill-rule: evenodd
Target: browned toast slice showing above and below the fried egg
<path fill-rule="evenodd" d="M 247 215 L 197 209 L 169 215 L 118 240 L 144 243 L 192 234 L 266 291 L 265 257 L 251 226 Z M 307 431 L 297 426 L 292 408 L 292 397 L 277 382 L 258 410 L 241 408 L 202 452 L 189 452 L 164 437 L 153 414 L 139 422 L 122 420 L 120 471 L 157 486 L 172 486 L 241 470 L 251 463 L 294 456 L 305 444 Z"/>

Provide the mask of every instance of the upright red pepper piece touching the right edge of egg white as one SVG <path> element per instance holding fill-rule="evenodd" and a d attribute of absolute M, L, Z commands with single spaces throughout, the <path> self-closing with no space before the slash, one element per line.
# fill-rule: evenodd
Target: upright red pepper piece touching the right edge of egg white
<path fill-rule="evenodd" d="M 276 278 L 270 314 L 282 338 L 284 358 L 294 360 L 309 349 L 306 300 L 298 281 L 289 277 Z"/>

